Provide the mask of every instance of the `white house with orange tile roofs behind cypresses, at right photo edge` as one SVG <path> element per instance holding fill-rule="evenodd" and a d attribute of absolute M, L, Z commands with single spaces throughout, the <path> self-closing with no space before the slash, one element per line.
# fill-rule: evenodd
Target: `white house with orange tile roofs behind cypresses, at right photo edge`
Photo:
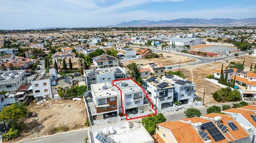
<path fill-rule="evenodd" d="M 220 79 L 220 73 L 220 70 L 214 71 L 214 78 L 216 80 Z M 244 89 L 242 88 L 243 96 L 256 98 L 256 73 L 236 68 L 228 68 L 223 70 L 224 77 L 226 76 L 226 74 L 228 74 L 227 80 L 233 81 L 235 79 L 236 85 L 241 85 L 241 87 L 245 87 Z"/>

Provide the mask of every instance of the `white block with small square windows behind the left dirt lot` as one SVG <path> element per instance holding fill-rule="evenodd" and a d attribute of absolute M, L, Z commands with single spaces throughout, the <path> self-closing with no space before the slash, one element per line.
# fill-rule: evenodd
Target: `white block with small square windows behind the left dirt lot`
<path fill-rule="evenodd" d="M 36 99 L 54 98 L 51 86 L 56 85 L 57 71 L 49 69 L 49 73 L 42 72 L 35 80 L 31 81 L 33 95 Z"/>

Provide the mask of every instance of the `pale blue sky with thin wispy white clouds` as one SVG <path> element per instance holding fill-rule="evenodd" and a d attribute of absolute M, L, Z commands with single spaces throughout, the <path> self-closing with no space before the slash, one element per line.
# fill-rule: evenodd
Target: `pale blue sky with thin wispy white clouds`
<path fill-rule="evenodd" d="M 255 18 L 256 0 L 0 0 L 0 29 L 99 27 L 131 20 Z"/>

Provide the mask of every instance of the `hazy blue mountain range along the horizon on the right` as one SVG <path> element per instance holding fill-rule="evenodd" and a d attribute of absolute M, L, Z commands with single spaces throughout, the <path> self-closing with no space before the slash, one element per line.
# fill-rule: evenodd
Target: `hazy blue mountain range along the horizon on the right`
<path fill-rule="evenodd" d="M 256 18 L 230 19 L 230 18 L 179 18 L 173 20 L 132 20 L 122 22 L 117 25 L 109 25 L 108 27 L 129 27 L 129 26 L 182 26 L 182 25 L 247 25 L 256 24 Z"/>

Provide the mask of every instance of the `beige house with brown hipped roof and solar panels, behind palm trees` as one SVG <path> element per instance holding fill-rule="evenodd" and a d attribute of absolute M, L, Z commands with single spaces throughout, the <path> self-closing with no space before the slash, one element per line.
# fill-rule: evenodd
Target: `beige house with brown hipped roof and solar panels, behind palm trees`
<path fill-rule="evenodd" d="M 92 68 L 107 68 L 119 66 L 119 59 L 114 56 L 109 56 L 107 54 L 102 54 L 92 58 L 93 65 Z"/>

